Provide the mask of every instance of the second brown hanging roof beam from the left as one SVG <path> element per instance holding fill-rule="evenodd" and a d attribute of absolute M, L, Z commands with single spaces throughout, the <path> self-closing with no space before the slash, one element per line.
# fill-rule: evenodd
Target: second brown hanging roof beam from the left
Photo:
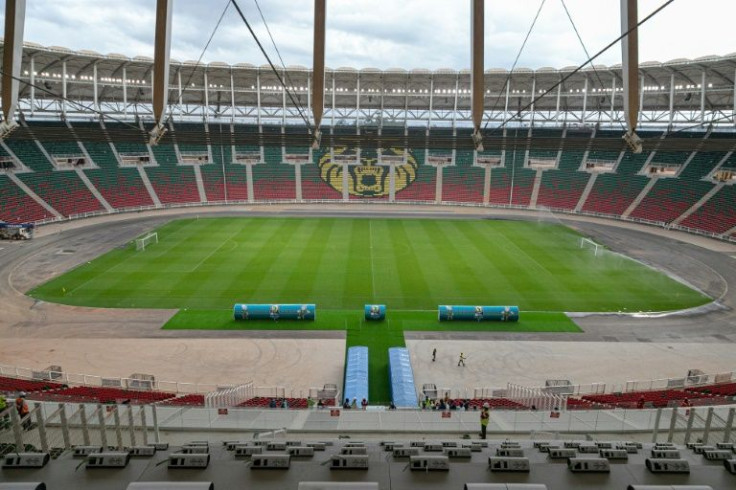
<path fill-rule="evenodd" d="M 155 145 L 166 133 L 164 116 L 169 95 L 169 57 L 171 54 L 171 16 L 174 0 L 156 0 L 156 35 L 153 51 L 153 117 L 156 125 L 149 133 Z"/>

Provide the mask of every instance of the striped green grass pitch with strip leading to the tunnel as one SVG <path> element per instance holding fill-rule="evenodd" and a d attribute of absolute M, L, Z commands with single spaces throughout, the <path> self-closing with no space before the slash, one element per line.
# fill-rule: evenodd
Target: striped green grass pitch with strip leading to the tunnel
<path fill-rule="evenodd" d="M 367 345 L 371 399 L 387 400 L 386 348 L 405 330 L 579 331 L 565 311 L 668 311 L 710 299 L 579 235 L 537 222 L 217 218 L 173 221 L 30 291 L 70 305 L 176 308 L 165 328 L 338 329 Z M 309 323 L 235 322 L 237 302 L 316 303 Z M 366 303 L 388 321 L 365 324 Z M 518 324 L 439 323 L 439 304 L 518 305 Z M 384 383 L 378 381 L 384 380 Z M 375 382 L 374 382 L 375 381 Z"/>

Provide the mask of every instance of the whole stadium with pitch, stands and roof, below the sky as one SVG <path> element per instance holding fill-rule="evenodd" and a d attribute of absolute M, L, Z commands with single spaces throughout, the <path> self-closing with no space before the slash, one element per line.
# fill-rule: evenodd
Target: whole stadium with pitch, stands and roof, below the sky
<path fill-rule="evenodd" d="M 621 65 L 485 69 L 474 0 L 469 70 L 333 69 L 317 0 L 311 68 L 177 61 L 171 4 L 6 1 L 0 489 L 734 487 L 736 54 L 622 0 Z"/>

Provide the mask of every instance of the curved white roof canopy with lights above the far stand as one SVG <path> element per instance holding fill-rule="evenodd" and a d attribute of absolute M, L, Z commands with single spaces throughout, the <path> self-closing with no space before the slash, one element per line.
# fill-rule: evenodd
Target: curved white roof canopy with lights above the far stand
<path fill-rule="evenodd" d="M 72 51 L 60 46 L 44 47 L 26 42 L 21 73 L 24 79 L 30 81 L 31 72 L 35 72 L 34 84 L 43 87 L 35 92 L 38 99 L 61 97 L 62 72 L 66 70 L 67 97 L 91 101 L 96 70 L 100 103 L 122 103 L 123 100 L 150 103 L 152 65 L 152 58 L 145 56 L 129 58 L 116 53 L 102 55 L 94 51 Z M 518 68 L 512 74 L 505 69 L 488 69 L 486 110 L 504 109 L 507 78 L 510 79 L 509 110 L 516 111 L 532 101 L 532 94 L 541 95 L 541 92 L 570 75 L 575 68 Z M 306 107 L 311 70 L 303 66 L 289 66 L 281 71 L 299 104 Z M 326 106 L 329 107 L 428 110 L 429 94 L 433 91 L 432 110 L 463 111 L 470 108 L 468 70 L 395 68 L 382 71 L 338 67 L 326 71 Z M 736 53 L 694 60 L 675 59 L 664 63 L 645 62 L 641 63 L 640 71 L 643 111 L 669 111 L 672 90 L 675 111 L 701 112 L 703 109 L 734 112 Z M 205 80 L 209 87 L 207 91 L 203 90 Z M 213 103 L 230 105 L 234 101 L 235 106 L 256 106 L 260 95 L 261 107 L 292 105 L 268 65 L 229 65 L 222 62 L 197 64 L 196 61 L 172 60 L 170 84 L 172 103 L 201 106 Z M 584 106 L 587 111 L 610 110 L 614 84 L 617 91 L 615 110 L 619 110 L 622 104 L 622 96 L 618 93 L 621 89 L 620 65 L 585 67 L 563 82 L 559 107 L 563 111 L 581 111 Z M 258 86 L 261 88 L 260 94 L 256 90 Z M 703 86 L 705 90 L 701 94 Z M 357 96 L 358 87 L 360 97 Z M 30 97 L 30 91 L 29 85 L 22 85 L 21 98 Z M 457 101 L 455 91 L 458 92 Z M 534 110 L 556 111 L 557 92 L 558 89 L 554 88 L 537 101 Z"/>

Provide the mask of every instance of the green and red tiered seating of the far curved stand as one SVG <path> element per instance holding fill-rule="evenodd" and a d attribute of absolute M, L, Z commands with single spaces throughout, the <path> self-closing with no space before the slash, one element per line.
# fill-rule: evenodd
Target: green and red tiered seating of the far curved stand
<path fill-rule="evenodd" d="M 30 123 L 29 127 L 35 133 L 44 134 L 47 130 L 63 129 L 66 125 L 61 122 L 44 121 Z M 73 129 L 76 134 L 88 134 L 90 130 L 100 129 L 111 138 L 111 141 L 115 139 L 116 134 L 120 134 L 120 131 L 130 130 L 127 126 L 116 122 L 106 123 L 104 128 L 97 122 L 76 122 Z M 176 128 L 180 138 L 205 130 L 205 125 L 192 123 L 178 124 Z M 114 141 L 114 147 L 105 142 L 82 139 L 80 139 L 82 146 L 76 141 L 44 141 L 43 149 L 33 140 L 10 138 L 6 144 L 8 149 L 31 170 L 31 172 L 18 172 L 15 174 L 16 177 L 65 217 L 105 212 L 102 203 L 90 192 L 78 173 L 88 177 L 94 189 L 99 191 L 115 210 L 152 207 L 155 204 L 152 197 L 159 198 L 163 205 L 198 203 L 200 192 L 195 175 L 197 171 L 201 174 L 205 202 L 245 202 L 249 198 L 258 202 L 297 198 L 296 166 L 284 163 L 284 159 L 285 155 L 289 154 L 307 154 L 309 148 L 266 146 L 262 150 L 257 145 L 257 140 L 252 137 L 259 128 L 252 124 L 213 125 L 209 130 L 214 131 L 213 137 L 218 136 L 218 143 L 210 146 L 180 143 L 177 146 L 172 143 L 174 141 L 172 139 L 168 143 L 152 147 L 152 154 L 143 142 L 137 143 L 128 139 Z M 282 132 L 281 126 L 276 125 L 264 126 L 263 130 L 279 135 Z M 222 137 L 225 131 L 228 134 L 232 131 L 238 136 L 249 136 L 254 143 L 237 146 L 227 144 L 228 138 Z M 301 133 L 303 128 L 287 128 L 284 131 L 289 134 Z M 355 128 L 338 127 L 333 131 L 353 134 Z M 399 133 L 403 135 L 403 131 L 403 128 L 393 127 L 383 130 L 385 134 L 394 137 Z M 446 128 L 433 128 L 429 136 L 426 135 L 424 128 L 409 128 L 407 131 L 410 137 L 421 138 L 424 135 L 428 142 L 452 136 L 452 130 Z M 463 131 L 467 130 L 458 130 L 459 133 Z M 507 130 L 507 135 L 511 137 L 523 137 L 528 134 L 528 129 Z M 532 136 L 554 141 L 562 134 L 558 129 L 534 129 Z M 592 134 L 595 138 L 620 139 L 621 132 L 569 130 L 564 132 L 564 137 L 590 138 Z M 672 137 L 682 138 L 684 135 L 693 139 L 702 139 L 706 136 L 704 132 L 692 131 L 673 134 Z M 709 235 L 730 232 L 736 226 L 736 215 L 731 212 L 736 191 L 730 182 L 715 182 L 712 174 L 717 169 L 728 170 L 736 167 L 736 155 L 731 154 L 730 158 L 726 159 L 729 154 L 723 151 L 669 151 L 666 149 L 667 139 L 660 139 L 662 133 L 643 133 L 643 137 L 658 141 L 659 146 L 639 155 L 600 150 L 559 152 L 554 148 L 545 150 L 506 148 L 504 161 L 500 166 L 494 166 L 490 170 L 489 205 L 520 207 L 536 205 L 537 208 L 563 212 L 577 211 L 614 218 L 621 218 L 624 215 L 625 219 L 660 226 L 677 225 L 685 230 Z M 730 133 L 708 133 L 708 138 L 712 139 L 729 137 Z M 591 138 L 591 144 L 595 138 Z M 44 151 L 49 155 L 48 158 Z M 303 200 L 343 199 L 341 191 L 338 190 L 342 182 L 337 183 L 333 178 L 333 187 L 325 182 L 321 175 L 318 162 L 322 161 L 328 151 L 328 148 L 316 151 L 312 158 L 314 163 L 299 165 L 301 173 L 299 185 Z M 123 166 L 116 152 L 125 156 L 143 155 L 146 159 L 152 155 L 154 159 L 150 163 L 145 163 L 143 167 L 134 164 Z M 0 152 L 6 153 L 4 150 Z M 85 153 L 91 161 L 81 168 L 75 169 L 74 166 L 70 166 L 66 170 L 59 170 L 49 161 L 49 158 L 65 155 L 82 157 Z M 557 161 L 558 153 L 559 161 Z M 205 161 L 181 164 L 181 158 L 188 156 L 191 160 L 193 155 L 197 154 L 204 155 Z M 411 150 L 417 165 L 415 178 L 405 188 L 395 192 L 397 202 L 435 201 L 437 168 L 426 164 L 424 160 L 427 154 L 447 156 L 450 153 L 449 150 L 436 148 Z M 263 158 L 260 155 L 263 155 Z M 442 201 L 482 205 L 486 169 L 473 166 L 471 151 L 459 150 L 454 155 L 454 165 L 443 166 L 441 170 Z M 493 150 L 487 149 L 484 155 L 494 155 Z M 376 149 L 362 151 L 364 162 L 373 161 L 376 157 Z M 253 196 L 248 195 L 249 172 L 245 160 L 252 169 L 250 184 Z M 550 164 L 550 168 L 532 168 L 530 161 L 536 163 L 546 161 Z M 600 168 L 600 162 L 605 162 L 608 167 Z M 658 166 L 668 167 L 668 172 L 658 174 L 652 170 Z M 150 179 L 153 196 L 146 188 L 144 177 Z M 341 180 L 340 177 L 338 179 Z M 9 177 L 0 175 L 0 185 L 6 197 L 0 203 L 0 220 L 17 223 L 54 218 L 51 211 L 27 195 Z M 583 195 L 586 186 L 590 187 L 590 193 Z M 538 187 L 538 191 L 535 187 Z M 642 195 L 645 188 L 648 192 Z M 535 193 L 537 195 L 533 196 Z M 388 198 L 388 192 L 377 198 L 369 195 L 350 196 L 351 200 L 385 201 Z M 638 203 L 637 198 L 640 199 Z M 630 214 L 626 215 L 626 212 Z"/>

